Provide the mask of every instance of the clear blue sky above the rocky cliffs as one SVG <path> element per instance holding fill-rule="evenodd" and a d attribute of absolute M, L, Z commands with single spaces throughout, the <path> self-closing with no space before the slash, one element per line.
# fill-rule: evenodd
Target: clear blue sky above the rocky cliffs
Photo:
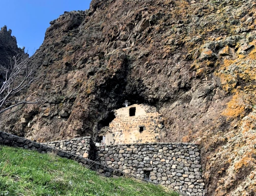
<path fill-rule="evenodd" d="M 89 9 L 91 0 L 0 0 L 0 27 L 12 29 L 20 48 L 29 54 L 44 40 L 49 22 L 64 11 Z"/>

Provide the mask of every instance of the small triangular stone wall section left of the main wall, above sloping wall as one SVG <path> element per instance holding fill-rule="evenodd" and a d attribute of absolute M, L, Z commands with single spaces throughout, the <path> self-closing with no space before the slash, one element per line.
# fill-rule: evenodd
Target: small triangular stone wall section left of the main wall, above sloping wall
<path fill-rule="evenodd" d="M 71 140 L 62 140 L 56 142 L 42 143 L 49 147 L 61 149 L 71 154 L 79 155 L 80 157 L 95 160 L 95 144 L 91 137 L 75 138 Z"/>

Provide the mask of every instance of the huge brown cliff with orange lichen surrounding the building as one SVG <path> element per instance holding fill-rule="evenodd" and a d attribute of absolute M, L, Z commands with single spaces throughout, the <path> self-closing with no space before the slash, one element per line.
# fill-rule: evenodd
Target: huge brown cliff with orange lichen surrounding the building
<path fill-rule="evenodd" d="M 163 142 L 201 147 L 207 196 L 256 195 L 256 2 L 93 0 L 34 54 L 41 105 L 1 116 L 38 142 L 93 135 L 124 100 L 158 108 Z"/>

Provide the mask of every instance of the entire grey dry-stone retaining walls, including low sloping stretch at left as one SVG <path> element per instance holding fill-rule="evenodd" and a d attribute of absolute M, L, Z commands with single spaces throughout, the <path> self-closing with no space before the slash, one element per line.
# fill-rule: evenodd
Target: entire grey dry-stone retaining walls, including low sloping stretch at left
<path fill-rule="evenodd" d="M 128 173 L 136 178 L 146 177 L 155 184 L 162 184 L 183 195 L 205 195 L 200 153 L 194 144 L 151 143 L 95 147 L 90 137 L 44 144 L 49 146 L 0 132 L 0 145 L 22 147 L 40 153 L 54 151 L 61 157 L 75 160 L 105 176 L 115 177 Z M 85 153 L 98 162 L 83 158 Z"/>

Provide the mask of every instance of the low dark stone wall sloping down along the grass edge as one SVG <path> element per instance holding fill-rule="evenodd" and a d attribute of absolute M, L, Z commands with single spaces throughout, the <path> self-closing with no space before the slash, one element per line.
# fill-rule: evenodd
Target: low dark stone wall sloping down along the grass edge
<path fill-rule="evenodd" d="M 79 155 L 71 154 L 69 152 L 65 152 L 60 149 L 42 145 L 42 144 L 33 142 L 31 140 L 21 138 L 21 137 L 18 137 L 9 133 L 1 132 L 1 131 L 0 131 L 0 145 L 36 150 L 39 153 L 54 152 L 58 156 L 61 156 L 67 159 L 72 159 L 80 163 L 84 167 L 90 170 L 96 171 L 97 173 L 107 177 L 117 177 L 117 176 L 124 175 L 124 173 L 121 171 L 115 170 L 114 168 L 109 168 L 106 165 L 102 165 L 90 159 L 80 157 Z"/>

